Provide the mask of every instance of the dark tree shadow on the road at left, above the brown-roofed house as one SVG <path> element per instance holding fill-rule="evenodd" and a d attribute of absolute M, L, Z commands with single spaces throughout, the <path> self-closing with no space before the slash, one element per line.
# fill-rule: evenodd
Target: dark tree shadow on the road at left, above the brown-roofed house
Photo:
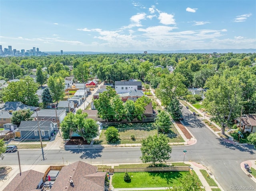
<path fill-rule="evenodd" d="M 95 149 L 84 148 L 84 149 L 65 149 L 65 150 L 71 152 L 72 154 L 81 154 L 80 156 L 81 159 L 96 159 L 102 156 L 101 153 L 103 152 L 103 147 L 95 148 Z"/>

